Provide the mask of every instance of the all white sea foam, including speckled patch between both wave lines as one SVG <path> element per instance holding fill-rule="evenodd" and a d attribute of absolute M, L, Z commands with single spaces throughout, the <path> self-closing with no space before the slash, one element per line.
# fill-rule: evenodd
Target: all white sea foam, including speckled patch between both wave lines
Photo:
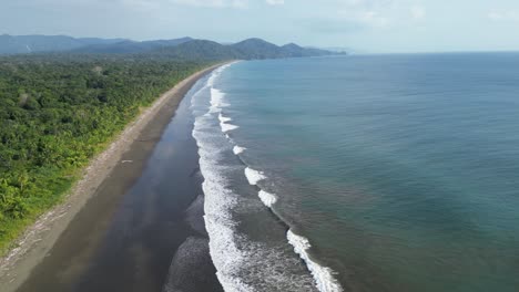
<path fill-rule="evenodd" d="M 289 234 L 287 234 L 288 241 L 292 240 L 291 243 L 296 252 L 301 254 L 309 267 L 313 278 L 309 274 L 295 275 L 283 269 L 287 262 L 289 262 L 288 264 L 298 264 L 298 261 L 292 258 L 279 261 L 283 257 L 284 248 L 256 247 L 253 242 L 241 238 L 240 233 L 236 232 L 236 222 L 233 220 L 231 210 L 235 208 L 240 196 L 227 187 L 230 181 L 224 175 L 227 168 L 225 164 L 222 164 L 224 149 L 221 144 L 215 143 L 218 139 L 218 135 L 214 132 L 215 125 L 213 119 L 215 113 L 220 113 L 222 107 L 225 106 L 225 94 L 212 88 L 217 76 L 225 67 L 215 70 L 207 80 L 207 87 L 211 87 L 211 106 L 208 108 L 206 105 L 201 107 L 202 103 L 200 103 L 197 97 L 192 101 L 192 104 L 196 104 L 193 107 L 193 113 L 196 113 L 193 136 L 199 146 L 200 168 L 204 177 L 202 185 L 205 195 L 204 220 L 210 237 L 210 253 L 216 268 L 218 281 L 226 292 L 256 291 L 256 280 L 252 280 L 251 277 L 254 277 L 254 279 L 260 278 L 264 281 L 257 291 L 308 291 L 308 284 L 312 283 L 313 279 L 320 291 L 342 291 L 338 284 L 322 284 L 326 282 L 327 274 L 333 280 L 332 272 L 328 268 L 323 268 L 308 258 L 306 249 L 309 248 L 309 243 L 307 240 L 301 240 L 304 238 L 293 234 L 292 231 L 288 231 Z M 208 112 L 204 114 L 206 109 Z M 223 118 L 225 119 L 225 117 Z M 222 121 L 220 116 L 218 119 L 221 126 L 222 124 L 234 126 L 227 124 L 230 121 Z M 244 149 L 243 147 L 235 146 L 233 152 L 240 154 Z M 256 185 L 260 180 L 266 178 L 263 173 L 248 167 L 245 169 L 245 176 L 251 185 Z M 272 206 L 276 202 L 276 197 L 266 191 L 260 191 L 258 196 L 266 206 Z M 295 262 L 292 262 L 293 260 Z M 272 269 L 265 269 L 266 265 Z M 335 283 L 333 281 L 329 282 Z"/>

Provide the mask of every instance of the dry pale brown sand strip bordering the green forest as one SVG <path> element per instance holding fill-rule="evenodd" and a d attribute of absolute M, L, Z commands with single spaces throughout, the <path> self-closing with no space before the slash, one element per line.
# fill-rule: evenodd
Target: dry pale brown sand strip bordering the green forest
<path fill-rule="evenodd" d="M 133 175 L 128 178 L 123 176 L 125 181 L 116 190 L 124 194 L 132 186 L 142 173 L 184 95 L 197 80 L 223 64 L 225 63 L 199 71 L 163 93 L 150 107 L 126 125 L 105 150 L 91 160 L 83 170 L 82 178 L 64 197 L 63 202 L 40 216 L 17 240 L 17 248 L 0 259 L 1 291 L 16 291 L 23 284 L 75 216 L 86 206 L 86 202 L 96 197 L 103 181 L 112 175 L 118 176 L 116 173 L 122 165 L 131 168 L 126 171 L 132 171 Z M 134 152 L 132 159 L 126 159 L 125 154 L 132 150 Z"/>

